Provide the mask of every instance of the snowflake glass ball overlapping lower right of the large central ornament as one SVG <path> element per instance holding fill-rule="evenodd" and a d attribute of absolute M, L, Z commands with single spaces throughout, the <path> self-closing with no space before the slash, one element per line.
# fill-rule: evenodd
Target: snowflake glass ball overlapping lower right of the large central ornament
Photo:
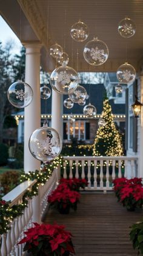
<path fill-rule="evenodd" d="M 69 98 L 71 99 L 71 101 L 73 101 L 75 103 L 84 101 L 86 96 L 87 96 L 87 91 L 81 85 L 78 85 L 76 90 L 73 91 L 73 93 L 69 94 Z"/>

